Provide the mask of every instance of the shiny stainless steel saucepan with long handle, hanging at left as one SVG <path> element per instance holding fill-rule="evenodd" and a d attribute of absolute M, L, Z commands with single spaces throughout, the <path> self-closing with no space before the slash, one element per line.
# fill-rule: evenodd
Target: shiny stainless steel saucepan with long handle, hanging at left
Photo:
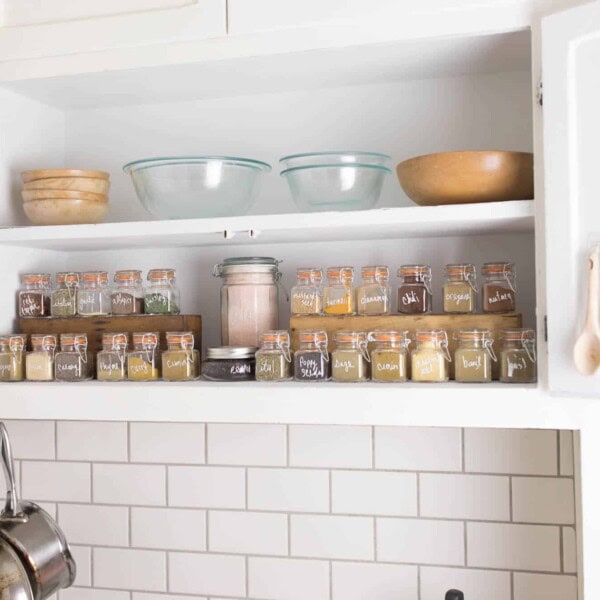
<path fill-rule="evenodd" d="M 0 537 L 17 553 L 31 583 L 34 600 L 44 600 L 75 581 L 75 561 L 54 519 L 33 502 L 19 501 L 8 432 L 0 423 L 6 505 L 0 514 Z"/>

